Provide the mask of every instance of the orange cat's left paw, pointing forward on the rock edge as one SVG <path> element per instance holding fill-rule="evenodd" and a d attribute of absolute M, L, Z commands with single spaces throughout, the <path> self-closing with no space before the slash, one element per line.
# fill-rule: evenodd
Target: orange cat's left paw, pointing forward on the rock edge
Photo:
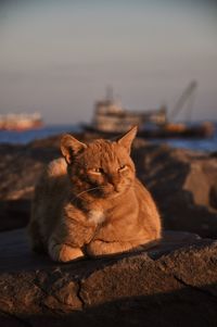
<path fill-rule="evenodd" d="M 64 243 L 49 243 L 49 254 L 53 261 L 68 262 L 75 259 L 84 256 L 82 251 L 79 248 L 72 248 Z"/>

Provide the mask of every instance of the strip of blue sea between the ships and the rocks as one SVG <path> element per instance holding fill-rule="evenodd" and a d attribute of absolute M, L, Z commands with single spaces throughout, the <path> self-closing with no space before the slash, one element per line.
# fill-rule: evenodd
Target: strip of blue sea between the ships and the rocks
<path fill-rule="evenodd" d="M 27 144 L 36 139 L 47 138 L 49 136 L 63 133 L 81 133 L 79 125 L 48 125 L 39 129 L 12 131 L 0 130 L 0 144 Z M 217 151 L 217 123 L 215 123 L 215 133 L 212 138 L 177 138 L 177 139 L 152 139 L 153 143 L 168 143 L 175 148 L 183 148 L 197 151 L 216 152 Z"/>

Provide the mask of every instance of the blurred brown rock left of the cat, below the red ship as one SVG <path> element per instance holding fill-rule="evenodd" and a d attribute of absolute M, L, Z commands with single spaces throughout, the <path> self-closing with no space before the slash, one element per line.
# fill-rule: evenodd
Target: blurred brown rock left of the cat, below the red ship
<path fill-rule="evenodd" d="M 49 138 L 27 146 L 0 146 L 0 199 L 29 199 L 34 184 L 46 163 L 60 155 L 59 138 Z"/>

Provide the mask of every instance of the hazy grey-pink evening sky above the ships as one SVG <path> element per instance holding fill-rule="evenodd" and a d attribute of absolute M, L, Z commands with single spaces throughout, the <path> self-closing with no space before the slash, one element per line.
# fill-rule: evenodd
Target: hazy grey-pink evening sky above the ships
<path fill-rule="evenodd" d="M 192 120 L 217 121 L 215 1 L 0 2 L 0 113 L 89 122 L 108 85 L 124 108 L 171 113 L 191 80 Z"/>

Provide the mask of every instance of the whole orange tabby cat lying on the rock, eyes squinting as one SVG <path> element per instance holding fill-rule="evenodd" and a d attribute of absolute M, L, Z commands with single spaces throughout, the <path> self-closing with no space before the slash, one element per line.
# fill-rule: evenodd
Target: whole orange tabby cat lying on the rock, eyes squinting
<path fill-rule="evenodd" d="M 161 218 L 130 158 L 135 126 L 117 140 L 61 139 L 64 158 L 40 177 L 28 225 L 31 247 L 53 261 L 132 251 L 161 239 Z"/>

